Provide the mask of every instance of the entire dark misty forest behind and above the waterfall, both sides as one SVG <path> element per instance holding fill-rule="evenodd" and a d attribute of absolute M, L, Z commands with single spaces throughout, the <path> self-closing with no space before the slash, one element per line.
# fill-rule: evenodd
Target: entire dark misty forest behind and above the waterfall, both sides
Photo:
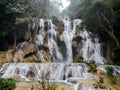
<path fill-rule="evenodd" d="M 81 30 L 86 28 L 95 33 L 110 51 L 120 51 L 120 0 L 68 1 L 70 5 L 61 11 L 60 0 L 0 0 L 0 50 L 15 48 L 30 37 L 35 44 L 40 18 L 55 19 L 57 23 L 57 19 L 66 15 L 82 19 Z M 32 31 L 32 36 L 26 35 Z"/>

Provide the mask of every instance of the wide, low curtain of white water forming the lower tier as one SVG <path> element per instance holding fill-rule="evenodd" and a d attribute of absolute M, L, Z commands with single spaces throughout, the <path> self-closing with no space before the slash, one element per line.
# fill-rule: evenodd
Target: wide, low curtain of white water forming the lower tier
<path fill-rule="evenodd" d="M 25 80 L 30 77 L 40 80 L 43 77 L 46 80 L 67 80 L 70 77 L 78 77 L 81 79 L 92 79 L 93 76 L 88 73 L 85 64 L 64 64 L 64 63 L 11 63 L 4 64 L 1 68 L 4 74 L 2 78 L 20 76 Z"/>

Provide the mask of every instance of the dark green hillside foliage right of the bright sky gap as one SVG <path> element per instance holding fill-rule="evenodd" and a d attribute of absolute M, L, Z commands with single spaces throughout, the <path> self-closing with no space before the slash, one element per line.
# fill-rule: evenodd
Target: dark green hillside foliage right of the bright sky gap
<path fill-rule="evenodd" d="M 120 0 L 70 0 L 66 10 L 72 18 L 81 18 L 82 27 L 98 34 L 103 41 L 111 40 L 113 46 L 120 42 Z M 116 40 L 114 39 L 114 36 Z M 116 44 L 116 45 L 115 45 Z"/>

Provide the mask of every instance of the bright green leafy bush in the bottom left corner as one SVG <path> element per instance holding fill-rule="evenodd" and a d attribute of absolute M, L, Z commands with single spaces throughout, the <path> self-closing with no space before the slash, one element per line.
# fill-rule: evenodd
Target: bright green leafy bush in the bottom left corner
<path fill-rule="evenodd" d="M 2 79 L 0 78 L 0 90 L 14 90 L 16 82 L 12 78 Z"/>

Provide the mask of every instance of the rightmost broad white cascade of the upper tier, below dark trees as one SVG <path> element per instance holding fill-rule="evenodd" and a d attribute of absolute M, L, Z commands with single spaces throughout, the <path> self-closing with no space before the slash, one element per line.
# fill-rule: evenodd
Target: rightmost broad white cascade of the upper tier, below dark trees
<path fill-rule="evenodd" d="M 86 61 L 95 61 L 96 64 L 104 64 L 105 59 L 102 57 L 99 39 L 97 37 L 92 38 L 92 33 L 87 30 L 83 30 L 80 33 L 82 40 L 81 55 Z"/>

